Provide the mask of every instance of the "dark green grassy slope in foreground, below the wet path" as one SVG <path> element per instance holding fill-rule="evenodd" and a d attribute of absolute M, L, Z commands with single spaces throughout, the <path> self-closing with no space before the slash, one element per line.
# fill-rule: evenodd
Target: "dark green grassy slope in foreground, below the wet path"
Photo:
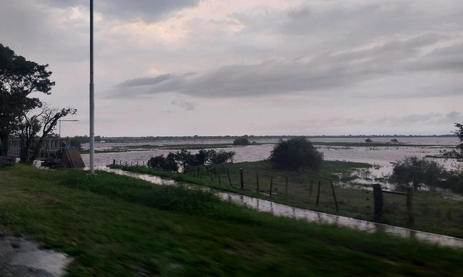
<path fill-rule="evenodd" d="M 109 172 L 0 168 L 0 226 L 68 276 L 458 276 L 463 251 L 259 213 Z"/>

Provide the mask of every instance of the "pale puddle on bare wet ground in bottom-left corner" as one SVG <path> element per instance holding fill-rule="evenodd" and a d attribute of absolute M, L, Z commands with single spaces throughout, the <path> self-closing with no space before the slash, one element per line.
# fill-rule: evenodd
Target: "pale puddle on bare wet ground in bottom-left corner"
<path fill-rule="evenodd" d="M 40 249 L 34 241 L 0 234 L 0 276 L 60 277 L 71 261 L 63 253 Z"/>

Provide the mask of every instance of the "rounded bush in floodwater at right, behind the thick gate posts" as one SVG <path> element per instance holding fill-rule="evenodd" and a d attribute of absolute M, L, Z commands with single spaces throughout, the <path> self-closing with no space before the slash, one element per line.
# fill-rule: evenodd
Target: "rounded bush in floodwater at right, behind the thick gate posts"
<path fill-rule="evenodd" d="M 442 186 L 447 176 L 444 166 L 437 162 L 411 156 L 394 165 L 389 181 L 399 185 L 412 185 L 417 190 L 420 185 Z"/>

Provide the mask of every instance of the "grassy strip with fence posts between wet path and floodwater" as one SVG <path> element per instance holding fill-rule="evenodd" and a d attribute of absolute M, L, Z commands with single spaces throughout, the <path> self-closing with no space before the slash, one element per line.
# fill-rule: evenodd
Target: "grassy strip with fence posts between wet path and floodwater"
<path fill-rule="evenodd" d="M 384 194 L 384 215 L 376 220 L 373 215 L 373 192 L 352 188 L 343 188 L 336 184 L 355 178 L 352 170 L 355 168 L 368 168 L 371 165 L 341 161 L 325 161 L 325 166 L 319 172 L 310 170 L 281 171 L 271 167 L 269 162 L 242 162 L 217 166 L 217 177 L 214 169 L 209 168 L 209 175 L 205 167 L 200 168 L 201 179 L 197 178 L 196 169 L 192 172 L 172 173 L 163 172 L 141 166 L 114 166 L 126 170 L 149 173 L 172 178 L 188 183 L 205 185 L 224 191 L 232 191 L 283 203 L 294 207 L 322 211 L 330 214 L 344 215 L 357 219 L 386 223 L 394 226 L 412 228 L 420 231 L 446 234 L 463 238 L 463 203 L 447 199 L 438 192 L 417 191 L 413 196 L 413 212 L 415 222 L 408 222 L 406 197 L 400 195 Z M 226 169 L 230 172 L 232 186 L 229 185 Z M 239 169 L 243 168 L 245 190 L 239 188 Z M 257 176 L 259 175 L 259 193 L 256 192 Z M 192 174 L 192 175 L 190 175 Z M 211 181 L 212 175 L 212 181 Z M 272 197 L 269 194 L 270 177 L 273 176 Z M 285 182 L 288 176 L 288 196 L 285 195 Z M 220 178 L 221 185 L 218 184 Z M 310 179 L 314 179 L 310 191 Z M 316 206 L 318 180 L 321 180 L 319 206 Z M 336 211 L 330 181 L 335 183 L 335 192 L 339 205 Z"/>

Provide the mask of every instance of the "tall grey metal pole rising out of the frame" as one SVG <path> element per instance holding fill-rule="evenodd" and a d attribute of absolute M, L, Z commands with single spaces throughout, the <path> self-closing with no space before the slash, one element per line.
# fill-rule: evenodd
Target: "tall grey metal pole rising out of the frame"
<path fill-rule="evenodd" d="M 93 0 L 90 0 L 90 174 L 94 174 L 95 155 L 95 105 L 93 83 Z"/>

